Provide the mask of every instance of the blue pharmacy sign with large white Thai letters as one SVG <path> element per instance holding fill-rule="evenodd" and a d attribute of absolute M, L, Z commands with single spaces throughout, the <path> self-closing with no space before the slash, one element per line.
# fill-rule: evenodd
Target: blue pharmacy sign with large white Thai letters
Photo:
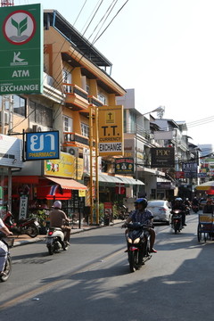
<path fill-rule="evenodd" d="M 60 158 L 59 131 L 26 133 L 26 161 Z"/>

